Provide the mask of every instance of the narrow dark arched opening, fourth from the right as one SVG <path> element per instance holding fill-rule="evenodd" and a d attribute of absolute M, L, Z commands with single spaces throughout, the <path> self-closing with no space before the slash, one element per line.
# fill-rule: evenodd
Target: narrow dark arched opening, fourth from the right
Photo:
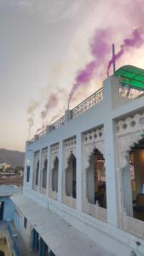
<path fill-rule="evenodd" d="M 58 191 L 58 170 L 59 170 L 59 159 L 57 156 L 55 157 L 54 161 L 54 168 L 52 170 L 52 183 L 51 183 L 51 188 L 53 191 Z"/>

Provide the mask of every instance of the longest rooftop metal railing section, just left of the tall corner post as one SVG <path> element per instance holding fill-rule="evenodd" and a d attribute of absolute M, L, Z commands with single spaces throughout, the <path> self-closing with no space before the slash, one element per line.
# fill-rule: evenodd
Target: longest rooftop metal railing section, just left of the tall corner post
<path fill-rule="evenodd" d="M 87 109 L 93 107 L 96 103 L 102 100 L 102 88 L 95 91 L 89 98 L 78 104 L 77 107 L 72 109 L 72 118 L 78 116 L 78 114 L 84 113 Z"/>

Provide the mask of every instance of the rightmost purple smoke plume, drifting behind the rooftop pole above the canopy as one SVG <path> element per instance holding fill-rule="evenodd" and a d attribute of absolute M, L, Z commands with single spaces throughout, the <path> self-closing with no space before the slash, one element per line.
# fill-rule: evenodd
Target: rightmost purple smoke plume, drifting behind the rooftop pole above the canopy
<path fill-rule="evenodd" d="M 111 61 L 108 62 L 108 67 L 107 67 L 107 76 L 109 73 L 110 68 L 112 67 L 112 63 L 114 61 L 117 61 L 122 55 L 124 55 L 124 52 L 131 48 L 131 47 L 136 47 L 139 48 L 141 44 L 144 43 L 144 39 L 142 38 L 142 31 L 140 28 L 136 28 L 130 38 L 125 38 L 124 43 L 120 45 L 120 50 L 118 51 L 117 55 L 112 56 Z"/>

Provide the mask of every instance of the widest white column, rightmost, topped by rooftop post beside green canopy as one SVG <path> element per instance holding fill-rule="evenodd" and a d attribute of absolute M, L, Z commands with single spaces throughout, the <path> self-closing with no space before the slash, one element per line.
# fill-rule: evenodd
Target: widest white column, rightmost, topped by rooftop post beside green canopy
<path fill-rule="evenodd" d="M 118 190 L 116 176 L 116 141 L 115 122 L 112 120 L 112 110 L 121 105 L 123 99 L 119 96 L 119 80 L 109 77 L 103 84 L 103 100 L 106 108 L 104 123 L 105 134 L 105 166 L 107 182 L 107 222 L 118 226 Z"/>

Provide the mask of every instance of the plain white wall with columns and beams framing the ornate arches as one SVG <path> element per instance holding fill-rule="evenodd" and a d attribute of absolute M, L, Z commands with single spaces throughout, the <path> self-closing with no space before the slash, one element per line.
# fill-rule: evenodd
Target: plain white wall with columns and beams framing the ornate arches
<path fill-rule="evenodd" d="M 104 247 L 112 250 L 116 255 L 127 256 L 132 249 L 136 250 L 135 236 L 131 236 L 129 233 L 124 232 L 118 228 L 118 177 L 117 177 L 117 148 L 115 142 L 115 120 L 120 119 L 130 113 L 136 113 L 143 110 L 144 97 L 138 98 L 134 101 L 126 100 L 118 93 L 118 79 L 109 77 L 104 81 L 103 85 L 103 100 L 93 108 L 79 114 L 74 119 L 70 119 L 65 125 L 61 125 L 60 128 L 49 132 L 46 136 L 41 137 L 39 140 L 33 143 L 26 144 L 26 158 L 29 157 L 31 166 L 33 166 L 33 154 L 37 150 L 50 147 L 55 143 L 60 143 L 59 156 L 60 156 L 60 170 L 59 170 L 59 195 L 58 201 L 52 201 L 48 198 L 48 195 L 42 195 L 32 190 L 32 170 L 30 183 L 26 183 L 24 193 L 27 196 L 32 197 L 35 201 L 48 207 L 54 212 L 61 215 L 62 218 L 66 218 L 66 221 L 70 222 L 78 230 L 87 233 L 91 239 L 99 242 Z M 107 181 L 107 224 L 102 221 L 90 217 L 88 214 L 82 212 L 82 135 L 84 131 L 88 131 L 94 127 L 104 125 L 105 132 L 105 161 L 106 161 L 106 181 Z M 62 143 L 69 137 L 77 137 L 77 209 L 69 209 L 68 207 L 61 205 L 61 181 L 62 181 Z M 30 153 L 31 152 L 31 153 Z M 27 156 L 29 154 L 29 156 Z M 49 173 L 48 173 L 49 176 Z M 48 190 L 48 189 L 47 189 Z M 141 241 L 141 247 L 139 247 L 137 255 L 144 253 L 144 241 Z"/>

